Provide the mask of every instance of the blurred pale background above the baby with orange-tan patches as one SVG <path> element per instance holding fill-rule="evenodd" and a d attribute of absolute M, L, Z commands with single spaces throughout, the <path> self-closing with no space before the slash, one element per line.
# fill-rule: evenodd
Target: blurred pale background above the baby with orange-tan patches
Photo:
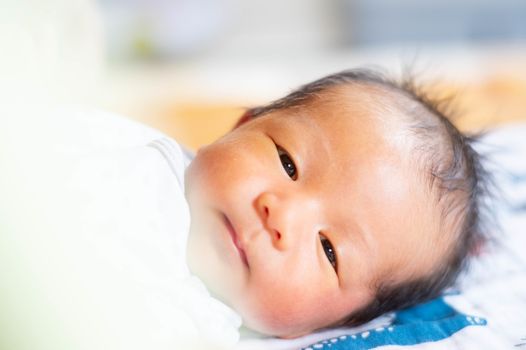
<path fill-rule="evenodd" d="M 59 37 L 48 63 L 73 67 L 64 90 L 90 86 L 90 103 L 191 148 L 245 107 L 357 66 L 409 68 L 456 94 L 463 129 L 526 120 L 524 0 L 48 0 L 19 12 L 44 18 L 37 43 Z"/>

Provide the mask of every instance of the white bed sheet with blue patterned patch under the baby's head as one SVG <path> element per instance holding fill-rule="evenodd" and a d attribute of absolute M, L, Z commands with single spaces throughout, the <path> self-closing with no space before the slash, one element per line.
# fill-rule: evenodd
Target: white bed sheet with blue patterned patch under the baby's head
<path fill-rule="evenodd" d="M 498 227 L 455 288 L 360 327 L 288 340 L 244 331 L 236 350 L 526 348 L 526 124 L 488 133 L 478 150 L 495 180 Z"/>

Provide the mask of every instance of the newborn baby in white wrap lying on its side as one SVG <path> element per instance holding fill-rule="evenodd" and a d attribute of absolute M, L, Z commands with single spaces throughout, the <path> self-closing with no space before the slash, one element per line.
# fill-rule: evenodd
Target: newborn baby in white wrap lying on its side
<path fill-rule="evenodd" d="M 482 237 L 483 172 L 473 140 L 413 91 L 330 75 L 193 159 L 104 113 L 19 121 L 1 138 L 16 181 L 0 181 L 18 231 L 0 247 L 25 252 L 3 281 L 27 297 L 6 299 L 6 319 L 31 319 L 20 341 L 39 348 L 229 348 L 239 316 L 298 337 L 436 297 Z M 40 304 L 56 322 L 26 307 Z"/>

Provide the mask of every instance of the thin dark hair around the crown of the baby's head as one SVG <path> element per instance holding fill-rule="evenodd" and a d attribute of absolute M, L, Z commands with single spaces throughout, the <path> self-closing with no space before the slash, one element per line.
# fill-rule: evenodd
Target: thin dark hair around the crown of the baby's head
<path fill-rule="evenodd" d="M 338 325 L 355 326 L 383 313 L 406 308 L 438 297 L 452 286 L 468 265 L 471 253 L 487 240 L 482 214 L 490 177 L 481 157 L 474 149 L 478 137 L 460 132 L 450 121 L 451 109 L 444 100 L 432 100 L 417 87 L 414 79 L 388 79 L 370 69 L 346 70 L 301 86 L 268 105 L 251 108 L 246 115 L 258 117 L 277 110 L 308 105 L 321 92 L 341 85 L 380 88 L 394 95 L 396 108 L 408 119 L 408 129 L 415 136 L 420 169 L 441 209 L 441 226 L 451 243 L 443 261 L 422 277 L 407 281 L 377 281 L 374 297 Z"/>

